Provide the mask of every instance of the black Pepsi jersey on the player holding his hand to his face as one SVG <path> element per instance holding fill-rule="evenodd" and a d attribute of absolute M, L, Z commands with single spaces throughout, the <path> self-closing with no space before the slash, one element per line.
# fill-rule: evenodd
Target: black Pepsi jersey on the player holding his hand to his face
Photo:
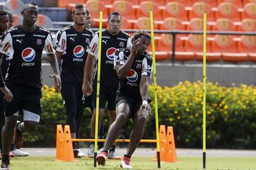
<path fill-rule="evenodd" d="M 116 50 L 114 53 L 114 66 L 127 62 L 129 54 L 130 50 L 127 48 Z M 132 63 L 132 67 L 127 76 L 124 79 L 119 79 L 119 95 L 142 100 L 139 84 L 142 75 L 151 77 L 151 73 L 152 57 L 146 52 L 142 55 L 137 55 L 137 57 L 134 58 L 134 62 Z"/>

